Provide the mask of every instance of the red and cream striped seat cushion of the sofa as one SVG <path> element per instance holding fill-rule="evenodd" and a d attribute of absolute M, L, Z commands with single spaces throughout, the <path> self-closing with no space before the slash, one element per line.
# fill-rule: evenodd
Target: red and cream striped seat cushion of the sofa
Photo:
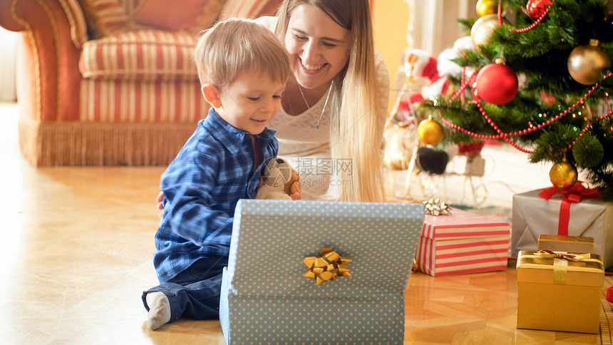
<path fill-rule="evenodd" d="M 195 41 L 185 32 L 125 31 L 83 44 L 83 78 L 170 81 L 197 80 Z"/>

